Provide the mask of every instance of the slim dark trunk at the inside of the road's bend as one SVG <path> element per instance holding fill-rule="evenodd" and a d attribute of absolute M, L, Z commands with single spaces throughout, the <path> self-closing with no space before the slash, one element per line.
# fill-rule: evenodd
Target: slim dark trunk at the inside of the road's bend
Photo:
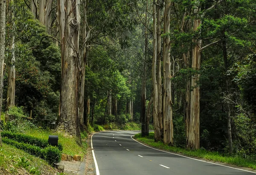
<path fill-rule="evenodd" d="M 147 11 L 148 11 L 148 0 L 146 1 L 145 11 L 145 25 L 147 25 Z M 146 118 L 146 76 L 147 76 L 147 48 L 148 48 L 148 30 L 145 27 L 145 48 L 144 48 L 144 67 L 143 67 L 143 78 L 142 78 L 142 91 L 141 91 L 141 135 L 145 136 L 145 118 Z"/>

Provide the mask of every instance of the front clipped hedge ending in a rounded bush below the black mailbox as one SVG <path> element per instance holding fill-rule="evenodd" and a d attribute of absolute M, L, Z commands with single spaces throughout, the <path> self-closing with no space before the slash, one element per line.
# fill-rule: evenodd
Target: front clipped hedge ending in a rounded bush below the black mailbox
<path fill-rule="evenodd" d="M 47 146 L 44 149 L 39 146 L 30 145 L 27 143 L 19 143 L 9 138 L 2 138 L 4 143 L 15 146 L 17 149 L 22 149 L 31 155 L 35 155 L 46 160 L 49 164 L 58 163 L 61 161 L 61 151 L 55 146 Z"/>

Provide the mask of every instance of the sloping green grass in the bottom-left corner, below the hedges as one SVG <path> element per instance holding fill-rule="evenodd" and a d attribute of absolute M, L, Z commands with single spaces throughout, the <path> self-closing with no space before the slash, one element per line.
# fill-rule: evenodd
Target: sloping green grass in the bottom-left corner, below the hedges
<path fill-rule="evenodd" d="M 0 148 L 0 174 L 17 175 L 26 172 L 34 175 L 40 175 L 41 172 L 58 174 L 46 161 L 3 143 L 3 147 Z"/>

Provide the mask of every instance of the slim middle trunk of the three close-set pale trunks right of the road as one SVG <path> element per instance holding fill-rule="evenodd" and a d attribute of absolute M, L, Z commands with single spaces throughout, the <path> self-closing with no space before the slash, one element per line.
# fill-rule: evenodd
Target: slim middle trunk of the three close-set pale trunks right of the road
<path fill-rule="evenodd" d="M 159 121 L 161 138 L 163 138 L 163 113 L 162 113 L 162 75 L 161 75 L 161 11 L 160 0 L 157 0 L 157 118 Z"/>

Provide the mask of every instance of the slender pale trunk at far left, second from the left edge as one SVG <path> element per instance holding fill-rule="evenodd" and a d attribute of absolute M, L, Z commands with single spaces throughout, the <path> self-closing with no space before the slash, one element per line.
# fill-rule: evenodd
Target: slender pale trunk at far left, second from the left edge
<path fill-rule="evenodd" d="M 6 114 L 10 107 L 15 106 L 15 29 L 13 28 L 14 24 L 14 1 L 7 1 L 8 9 L 8 23 L 9 27 L 7 29 L 8 35 L 8 47 L 9 54 L 7 61 L 8 68 L 8 88 L 7 88 L 7 105 L 6 105 Z"/>

